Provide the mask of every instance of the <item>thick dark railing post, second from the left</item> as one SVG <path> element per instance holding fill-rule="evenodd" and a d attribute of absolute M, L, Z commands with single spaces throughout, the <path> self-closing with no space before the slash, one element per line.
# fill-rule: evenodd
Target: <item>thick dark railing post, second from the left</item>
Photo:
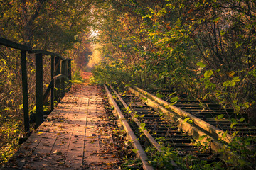
<path fill-rule="evenodd" d="M 36 128 L 43 123 L 43 55 L 36 54 Z"/>

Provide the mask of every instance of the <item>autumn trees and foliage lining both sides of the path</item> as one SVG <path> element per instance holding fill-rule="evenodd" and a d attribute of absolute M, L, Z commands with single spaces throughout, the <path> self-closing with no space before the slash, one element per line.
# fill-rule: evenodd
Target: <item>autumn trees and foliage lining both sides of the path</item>
<path fill-rule="evenodd" d="M 249 113 L 255 123 L 256 1 L 4 0 L 0 17 L 2 38 L 73 58 L 74 75 L 95 43 L 102 61 L 93 82 L 169 89 Z M 0 57 L 0 142 L 13 146 L 6 140 L 21 134 L 20 55 L 0 47 Z M 34 93 L 34 59 L 27 60 Z"/>

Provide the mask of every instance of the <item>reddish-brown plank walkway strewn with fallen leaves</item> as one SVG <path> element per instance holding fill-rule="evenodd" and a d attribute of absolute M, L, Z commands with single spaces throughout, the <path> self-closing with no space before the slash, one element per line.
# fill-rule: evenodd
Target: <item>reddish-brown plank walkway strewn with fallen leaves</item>
<path fill-rule="evenodd" d="M 100 87 L 68 93 L 11 159 L 16 169 L 116 169 Z"/>

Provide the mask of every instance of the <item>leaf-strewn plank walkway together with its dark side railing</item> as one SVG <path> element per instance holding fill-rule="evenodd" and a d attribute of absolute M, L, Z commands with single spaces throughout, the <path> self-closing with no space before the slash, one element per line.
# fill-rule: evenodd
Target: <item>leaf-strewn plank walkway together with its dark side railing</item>
<path fill-rule="evenodd" d="M 30 133 L 26 54 L 36 57 L 36 132 L 4 169 L 115 169 L 112 127 L 105 120 L 100 88 L 81 85 L 70 89 L 71 60 L 61 55 L 0 38 L 0 45 L 21 50 L 24 127 Z M 43 55 L 50 55 L 51 81 L 43 91 Z M 72 94 L 71 94 L 72 93 Z M 51 113 L 43 106 L 50 98 Z M 54 107 L 54 102 L 59 101 Z"/>

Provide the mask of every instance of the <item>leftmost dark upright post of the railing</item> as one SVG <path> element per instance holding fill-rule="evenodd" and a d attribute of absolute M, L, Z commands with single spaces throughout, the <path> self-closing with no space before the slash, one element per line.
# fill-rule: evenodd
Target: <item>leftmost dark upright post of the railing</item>
<path fill-rule="evenodd" d="M 26 68 L 26 50 L 21 50 L 21 74 L 22 74 L 24 129 L 25 129 L 25 132 L 29 132 L 28 76 L 27 76 L 27 68 Z"/>

